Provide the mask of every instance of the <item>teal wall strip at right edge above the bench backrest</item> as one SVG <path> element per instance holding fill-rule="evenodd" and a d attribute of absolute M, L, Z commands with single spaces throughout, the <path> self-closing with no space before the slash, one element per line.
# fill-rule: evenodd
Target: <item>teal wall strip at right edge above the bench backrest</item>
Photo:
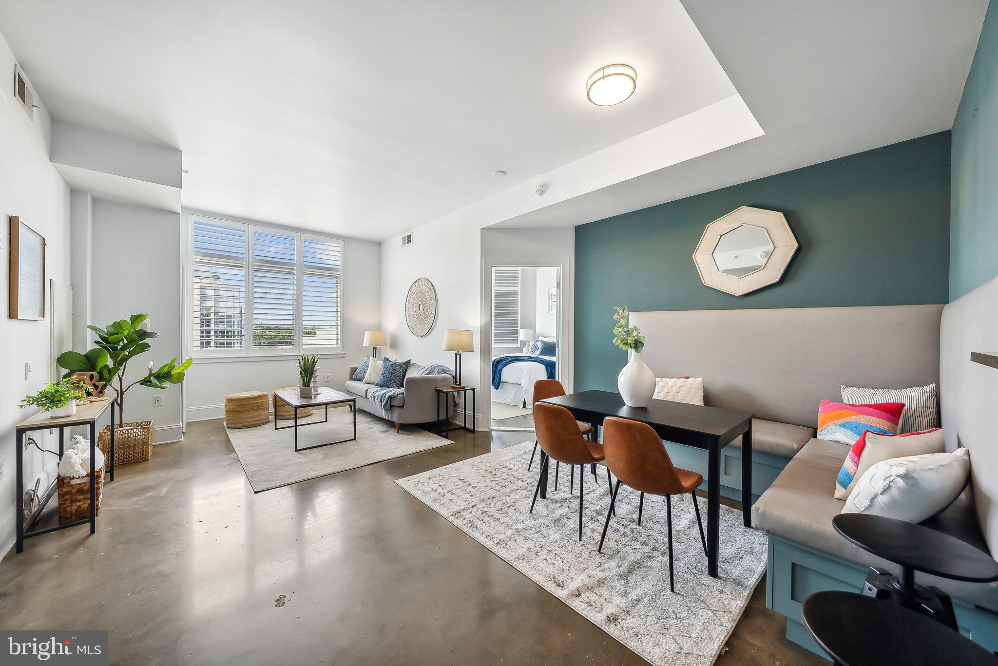
<path fill-rule="evenodd" d="M 998 276 L 998 3 L 991 3 L 953 121 L 949 300 Z"/>

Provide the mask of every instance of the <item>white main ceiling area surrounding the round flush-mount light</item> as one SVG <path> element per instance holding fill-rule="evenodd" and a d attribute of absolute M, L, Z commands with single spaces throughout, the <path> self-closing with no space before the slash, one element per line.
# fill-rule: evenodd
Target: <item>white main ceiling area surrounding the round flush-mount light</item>
<path fill-rule="evenodd" d="M 54 117 L 181 149 L 185 206 L 372 240 L 736 94 L 678 0 L 0 0 L 0 33 Z M 638 91 L 593 106 L 615 62 Z"/>

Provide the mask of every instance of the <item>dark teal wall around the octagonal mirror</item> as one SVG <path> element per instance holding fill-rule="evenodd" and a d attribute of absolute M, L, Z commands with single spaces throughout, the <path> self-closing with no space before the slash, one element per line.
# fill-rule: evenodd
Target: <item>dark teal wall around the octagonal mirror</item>
<path fill-rule="evenodd" d="M 626 362 L 613 306 L 634 311 L 943 304 L 950 133 L 576 227 L 575 389 L 614 389 Z M 740 206 L 780 211 L 799 248 L 780 283 L 743 297 L 705 287 L 704 228 Z"/>

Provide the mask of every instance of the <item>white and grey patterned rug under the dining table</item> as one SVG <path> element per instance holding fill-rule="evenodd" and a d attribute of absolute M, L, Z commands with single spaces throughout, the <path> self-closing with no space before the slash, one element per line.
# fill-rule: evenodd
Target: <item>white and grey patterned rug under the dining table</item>
<path fill-rule="evenodd" d="M 579 474 L 569 494 L 562 465 L 559 489 L 528 513 L 537 484 L 524 442 L 396 481 L 430 508 L 482 543 L 653 664 L 712 664 L 749 603 L 765 570 L 765 534 L 745 527 L 742 513 L 721 507 L 720 577 L 707 573 L 690 496 L 673 498 L 676 592 L 669 591 L 665 497 L 645 497 L 621 486 L 617 517 L 597 552 L 610 503 L 606 469 L 599 481 L 587 470 L 583 540 L 579 529 Z M 552 474 L 552 476 L 554 476 Z M 701 497 L 707 518 L 707 500 Z"/>

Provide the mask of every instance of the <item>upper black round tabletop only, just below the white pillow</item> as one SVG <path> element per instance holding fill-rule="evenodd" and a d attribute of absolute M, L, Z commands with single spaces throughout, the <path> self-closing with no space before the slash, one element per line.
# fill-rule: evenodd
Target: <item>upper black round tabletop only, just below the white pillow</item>
<path fill-rule="evenodd" d="M 863 550 L 942 578 L 986 583 L 998 580 L 998 562 L 949 534 L 905 520 L 866 513 L 840 513 L 835 531 Z"/>

